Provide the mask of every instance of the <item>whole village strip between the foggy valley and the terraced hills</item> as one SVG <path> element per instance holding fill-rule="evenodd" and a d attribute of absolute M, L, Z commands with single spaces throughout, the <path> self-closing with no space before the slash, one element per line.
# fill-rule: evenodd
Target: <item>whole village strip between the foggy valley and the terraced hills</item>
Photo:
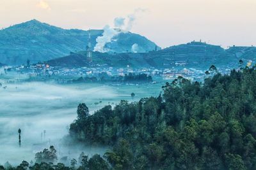
<path fill-rule="evenodd" d="M 218 70 L 218 73 L 225 74 L 230 69 Z M 127 67 L 106 67 L 106 66 L 94 66 L 94 67 L 54 67 L 49 64 L 33 64 L 30 66 L 5 66 L 4 69 L 0 69 L 2 76 L 0 83 L 17 83 L 19 81 L 47 81 L 58 80 L 58 82 L 67 82 L 68 80 L 74 80 L 80 77 L 87 78 L 100 78 L 102 76 L 108 77 L 124 77 L 128 74 L 139 75 L 147 74 L 152 77 L 152 82 L 156 80 L 172 81 L 179 77 L 186 78 L 190 81 L 204 81 L 207 78 L 205 70 L 186 68 L 186 67 L 170 67 L 157 69 L 154 67 L 148 68 L 132 68 Z M 13 76 L 12 74 L 19 74 L 19 76 Z M 5 78 L 8 78 L 8 80 Z"/>

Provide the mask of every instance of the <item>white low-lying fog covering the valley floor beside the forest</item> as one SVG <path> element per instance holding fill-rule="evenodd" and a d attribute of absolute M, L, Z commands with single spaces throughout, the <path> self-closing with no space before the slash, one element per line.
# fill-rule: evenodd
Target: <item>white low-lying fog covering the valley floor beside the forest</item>
<path fill-rule="evenodd" d="M 58 160 L 68 156 L 77 159 L 104 153 L 108 148 L 72 146 L 60 140 L 68 134 L 68 125 L 76 118 L 79 103 L 86 103 L 90 113 L 120 99 L 138 101 L 141 97 L 158 96 L 161 84 L 107 86 L 99 84 L 56 85 L 53 83 L 8 84 L 0 87 L 0 164 L 9 161 L 35 160 L 35 153 L 54 145 Z M 136 96 L 131 98 L 131 92 Z M 100 103 L 100 101 L 102 101 Z M 21 129 L 19 147 L 18 129 Z M 44 133 L 45 131 L 45 133 Z"/>

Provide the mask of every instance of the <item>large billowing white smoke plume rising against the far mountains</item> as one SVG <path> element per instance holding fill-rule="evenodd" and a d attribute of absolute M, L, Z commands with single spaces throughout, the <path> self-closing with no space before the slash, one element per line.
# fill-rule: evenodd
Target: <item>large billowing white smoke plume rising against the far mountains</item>
<path fill-rule="evenodd" d="M 106 25 L 104 27 L 104 32 L 102 36 L 97 37 L 96 42 L 97 44 L 94 47 L 93 51 L 97 52 L 109 52 L 109 49 L 105 47 L 107 43 L 110 43 L 112 39 L 117 36 L 120 32 L 128 32 L 131 31 L 132 26 L 134 25 L 134 21 L 136 20 L 136 16 L 139 12 L 143 12 L 144 10 L 137 9 L 131 15 L 127 17 L 117 17 L 114 19 L 114 26 L 110 27 Z"/>

